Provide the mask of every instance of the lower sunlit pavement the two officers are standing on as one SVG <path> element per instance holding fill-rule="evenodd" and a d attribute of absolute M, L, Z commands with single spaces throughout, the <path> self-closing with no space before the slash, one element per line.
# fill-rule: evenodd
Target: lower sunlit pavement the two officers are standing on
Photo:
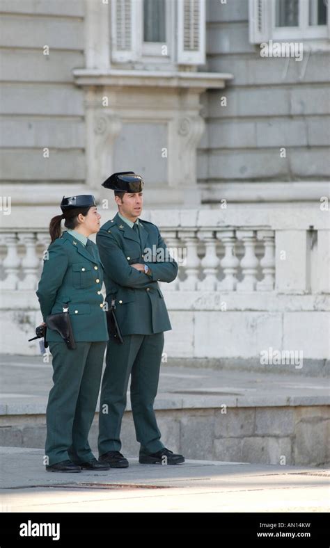
<path fill-rule="evenodd" d="M 188 460 L 45 472 L 42 449 L 0 449 L 2 512 L 328 512 L 329 471 Z"/>

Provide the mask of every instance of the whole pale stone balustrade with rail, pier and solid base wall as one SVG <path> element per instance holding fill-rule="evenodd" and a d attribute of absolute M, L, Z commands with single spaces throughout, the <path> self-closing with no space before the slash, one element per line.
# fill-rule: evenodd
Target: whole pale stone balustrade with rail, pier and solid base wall
<path fill-rule="evenodd" d="M 100 213 L 102 222 L 111 218 Z M 329 360 L 328 211 L 228 207 L 150 211 L 143 219 L 160 227 L 179 264 L 174 282 L 159 282 L 173 326 L 169 356 L 258 363 L 272 347 Z M 36 345 L 26 341 L 41 321 L 35 292 L 49 218 L 29 229 L 7 220 L 0 229 L 2 348 L 31 354 Z"/>

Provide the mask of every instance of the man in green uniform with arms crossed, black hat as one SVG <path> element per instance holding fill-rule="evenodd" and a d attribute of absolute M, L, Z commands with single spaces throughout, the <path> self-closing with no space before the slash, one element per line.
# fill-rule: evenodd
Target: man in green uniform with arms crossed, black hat
<path fill-rule="evenodd" d="M 116 318 L 123 335 L 120 344 L 110 337 L 100 398 L 100 462 L 127 467 L 120 453 L 120 427 L 130 394 L 141 464 L 175 465 L 184 457 L 160 441 L 153 404 L 157 395 L 164 331 L 171 330 L 158 282 L 172 282 L 178 264 L 169 257 L 156 225 L 139 220 L 143 181 L 134 172 L 114 173 L 102 184 L 115 191 L 116 216 L 105 223 L 96 243 L 104 264 L 106 301 L 115 300 Z"/>

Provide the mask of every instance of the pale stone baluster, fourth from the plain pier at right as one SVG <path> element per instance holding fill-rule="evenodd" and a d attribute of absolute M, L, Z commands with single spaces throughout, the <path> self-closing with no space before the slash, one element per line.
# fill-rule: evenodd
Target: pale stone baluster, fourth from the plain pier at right
<path fill-rule="evenodd" d="M 205 256 L 201 261 L 205 278 L 198 282 L 198 289 L 216 291 L 218 287 L 217 273 L 220 264 L 217 257 L 217 240 L 213 230 L 200 230 L 198 238 L 205 243 Z"/>

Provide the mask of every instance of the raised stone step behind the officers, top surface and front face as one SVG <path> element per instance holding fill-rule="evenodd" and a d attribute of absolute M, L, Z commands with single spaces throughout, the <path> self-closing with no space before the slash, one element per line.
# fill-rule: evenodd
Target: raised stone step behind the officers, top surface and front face
<path fill-rule="evenodd" d="M 40 357 L 3 357 L 1 446 L 45 447 L 52 372 Z M 327 466 L 327 385 L 301 369 L 284 375 L 164 364 L 155 401 L 162 442 L 189 459 Z M 90 433 L 95 454 L 97 430 L 96 412 Z M 129 393 L 121 440 L 124 453 L 139 454 Z"/>

